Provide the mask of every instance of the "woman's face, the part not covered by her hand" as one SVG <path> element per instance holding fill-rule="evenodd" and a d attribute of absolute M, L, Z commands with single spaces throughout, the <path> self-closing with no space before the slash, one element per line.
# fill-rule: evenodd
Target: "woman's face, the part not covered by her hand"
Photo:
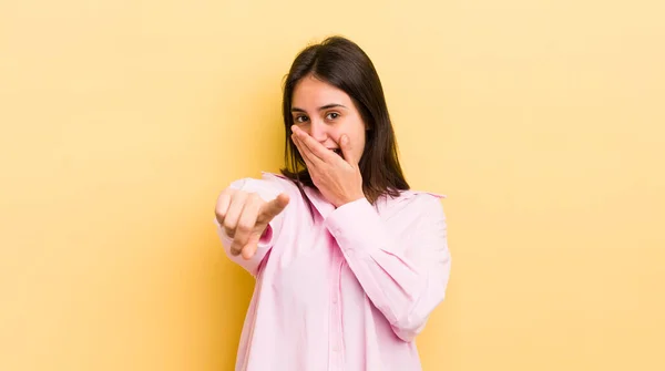
<path fill-rule="evenodd" d="M 339 141 L 346 134 L 354 158 L 360 159 L 365 150 L 366 125 L 350 96 L 342 90 L 313 75 L 303 78 L 294 89 L 291 116 L 295 125 L 339 155 Z"/>

